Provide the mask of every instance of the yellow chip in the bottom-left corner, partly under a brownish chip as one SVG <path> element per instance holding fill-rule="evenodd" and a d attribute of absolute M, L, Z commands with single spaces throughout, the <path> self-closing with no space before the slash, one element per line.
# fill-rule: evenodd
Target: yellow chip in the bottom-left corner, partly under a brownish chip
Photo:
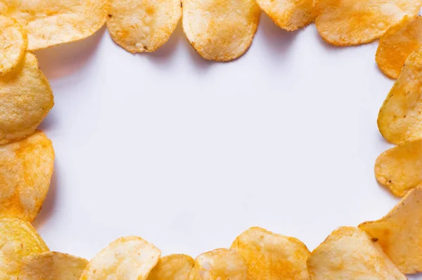
<path fill-rule="evenodd" d="M 23 259 L 49 251 L 29 222 L 0 218 L 0 280 L 20 279 Z"/>

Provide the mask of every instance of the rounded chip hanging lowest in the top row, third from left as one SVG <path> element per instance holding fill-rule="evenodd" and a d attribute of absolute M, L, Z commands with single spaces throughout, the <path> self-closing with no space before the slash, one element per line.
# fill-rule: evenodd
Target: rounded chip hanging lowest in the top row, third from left
<path fill-rule="evenodd" d="M 229 61 L 248 51 L 260 22 L 255 0 L 182 0 L 183 29 L 207 60 Z"/>

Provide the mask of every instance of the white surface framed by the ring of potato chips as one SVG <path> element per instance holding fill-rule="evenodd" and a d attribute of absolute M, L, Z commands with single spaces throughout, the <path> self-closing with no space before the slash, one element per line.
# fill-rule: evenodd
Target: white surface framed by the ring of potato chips
<path fill-rule="evenodd" d="M 376 47 L 335 48 L 314 25 L 286 33 L 262 16 L 230 63 L 200 58 L 180 26 L 153 54 L 127 53 L 106 29 L 37 52 L 56 102 L 41 126 L 56 169 L 37 229 L 85 258 L 129 234 L 195 257 L 254 225 L 312 250 L 381 218 L 398 199 L 373 176 L 393 83 Z"/>

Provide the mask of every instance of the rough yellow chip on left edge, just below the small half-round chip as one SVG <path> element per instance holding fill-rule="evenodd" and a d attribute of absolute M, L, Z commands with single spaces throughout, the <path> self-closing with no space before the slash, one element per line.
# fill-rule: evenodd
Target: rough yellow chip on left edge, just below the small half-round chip
<path fill-rule="evenodd" d="M 26 53 L 18 68 L 0 77 L 0 145 L 33 133 L 53 105 L 49 81 L 35 55 Z"/>

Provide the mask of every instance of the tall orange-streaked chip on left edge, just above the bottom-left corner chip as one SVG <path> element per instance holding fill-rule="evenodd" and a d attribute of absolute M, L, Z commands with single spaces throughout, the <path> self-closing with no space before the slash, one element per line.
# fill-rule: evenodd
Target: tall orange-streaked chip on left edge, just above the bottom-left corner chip
<path fill-rule="evenodd" d="M 53 145 L 41 131 L 1 145 L 0 216 L 34 220 L 49 191 L 53 164 Z"/>

